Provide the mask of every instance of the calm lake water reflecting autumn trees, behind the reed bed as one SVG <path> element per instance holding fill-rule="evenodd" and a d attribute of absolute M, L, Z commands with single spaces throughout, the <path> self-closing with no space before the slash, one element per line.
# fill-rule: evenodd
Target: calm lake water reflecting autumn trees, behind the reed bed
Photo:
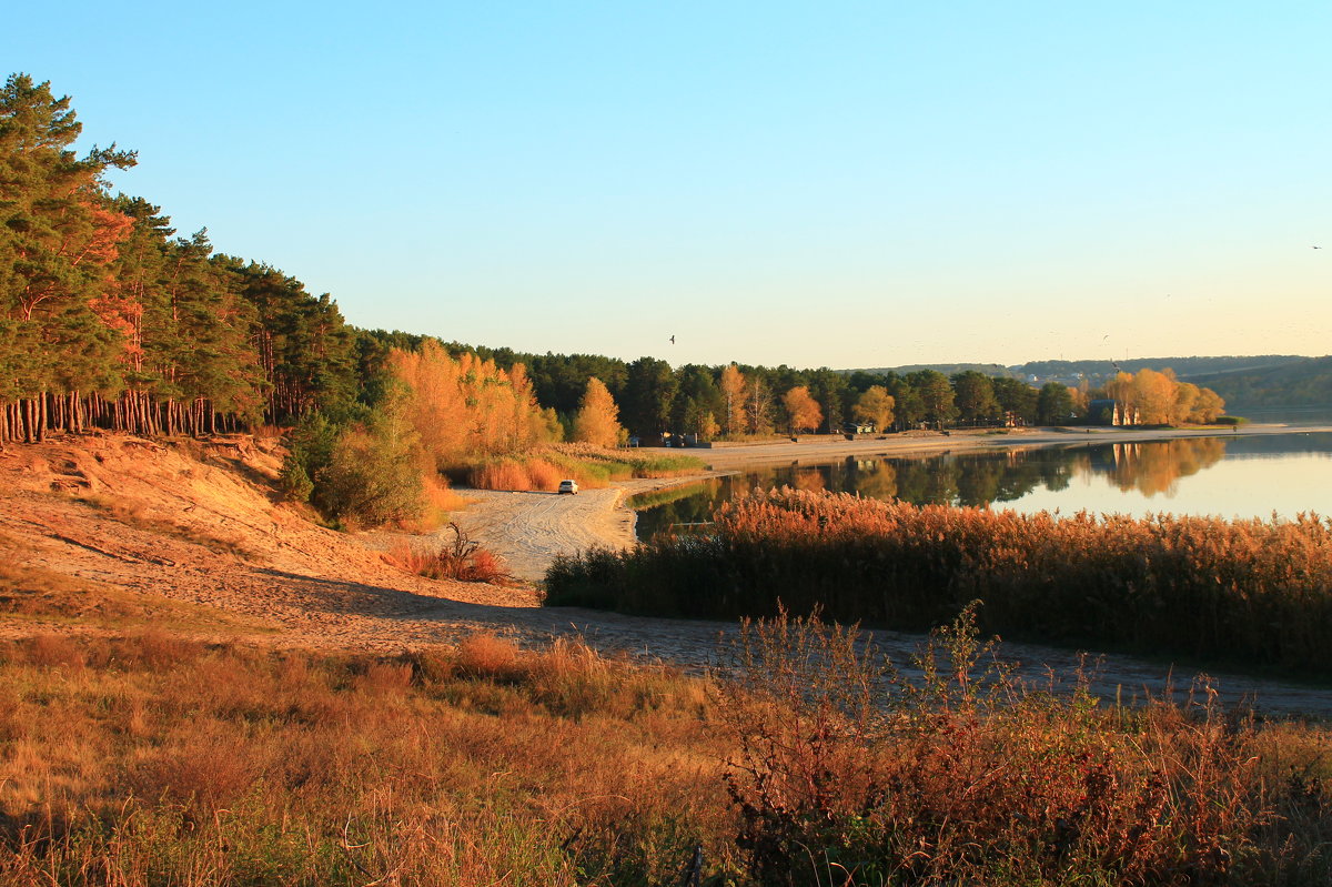
<path fill-rule="evenodd" d="M 1332 515 L 1332 433 L 766 463 L 735 477 L 638 497 L 630 505 L 638 509 L 639 538 L 647 538 L 674 523 L 707 521 L 733 495 L 781 485 L 1018 511 Z"/>

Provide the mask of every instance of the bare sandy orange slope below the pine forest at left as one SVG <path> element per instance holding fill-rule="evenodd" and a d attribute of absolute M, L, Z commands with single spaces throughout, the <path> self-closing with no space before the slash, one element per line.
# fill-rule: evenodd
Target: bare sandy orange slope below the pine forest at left
<path fill-rule="evenodd" d="M 0 635 L 127 622 L 202 638 L 401 650 L 530 590 L 434 582 L 276 503 L 276 441 L 131 436 L 0 451 Z M 429 618 L 425 618 L 429 614 Z M 417 619 L 413 621 L 413 617 Z"/>

